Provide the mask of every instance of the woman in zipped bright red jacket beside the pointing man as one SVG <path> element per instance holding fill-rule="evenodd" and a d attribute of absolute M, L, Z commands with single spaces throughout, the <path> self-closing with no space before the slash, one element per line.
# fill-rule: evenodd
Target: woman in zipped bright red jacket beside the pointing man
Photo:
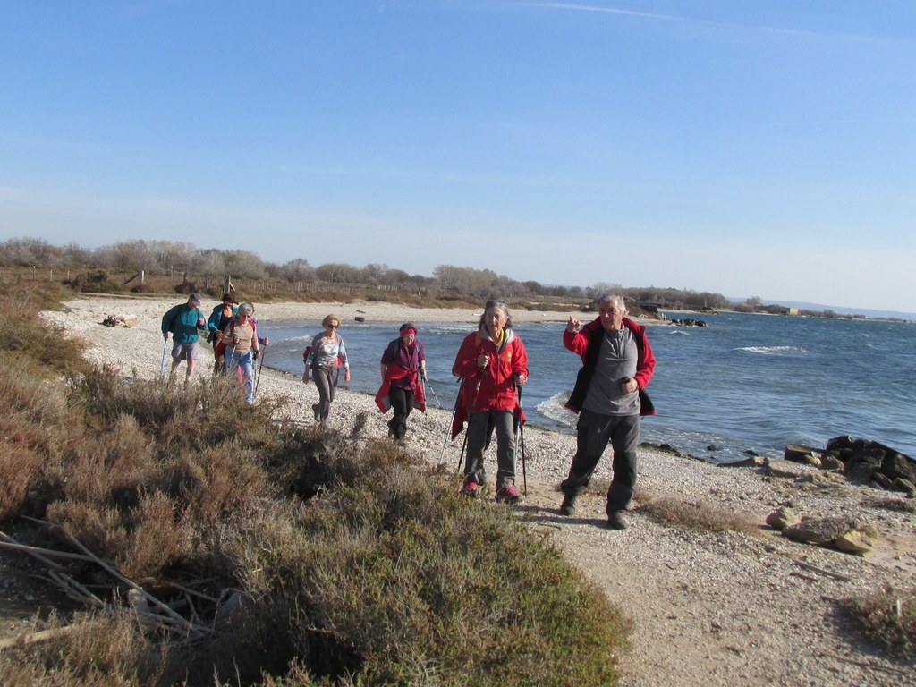
<path fill-rule="evenodd" d="M 513 425 L 521 412 L 518 388 L 528 381 L 528 354 L 504 301 L 487 301 L 477 331 L 464 337 L 455 355 L 452 374 L 463 379 L 459 403 L 470 413 L 462 493 L 475 497 L 484 484 L 484 452 L 495 429 L 496 500 L 518 503 Z"/>

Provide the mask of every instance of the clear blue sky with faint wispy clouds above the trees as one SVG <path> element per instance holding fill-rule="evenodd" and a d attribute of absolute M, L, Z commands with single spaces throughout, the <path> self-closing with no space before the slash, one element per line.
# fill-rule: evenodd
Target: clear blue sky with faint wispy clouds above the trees
<path fill-rule="evenodd" d="M 0 240 L 916 312 L 911 0 L 0 8 Z"/>

